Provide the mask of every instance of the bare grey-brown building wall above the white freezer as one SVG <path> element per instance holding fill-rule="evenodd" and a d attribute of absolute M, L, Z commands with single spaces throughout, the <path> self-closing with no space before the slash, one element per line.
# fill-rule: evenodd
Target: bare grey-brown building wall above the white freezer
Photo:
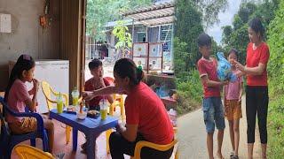
<path fill-rule="evenodd" d="M 60 2 L 51 0 L 50 26 L 39 25 L 45 0 L 0 0 L 0 13 L 12 15 L 12 33 L 0 33 L 0 91 L 8 81 L 8 61 L 20 54 L 36 59 L 59 58 Z"/>

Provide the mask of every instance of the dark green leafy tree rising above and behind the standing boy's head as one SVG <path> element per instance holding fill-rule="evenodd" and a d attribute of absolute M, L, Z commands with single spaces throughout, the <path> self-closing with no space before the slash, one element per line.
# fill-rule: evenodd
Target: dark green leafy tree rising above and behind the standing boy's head
<path fill-rule="evenodd" d="M 217 22 L 217 13 L 224 10 L 227 1 L 225 0 L 177 0 L 176 18 L 174 24 L 175 37 L 180 42 L 187 44 L 186 52 L 188 55 L 182 59 L 185 61 L 185 71 L 195 67 L 199 54 L 196 39 L 204 32 L 203 27 L 209 27 Z M 203 26 L 205 24 L 205 26 Z M 174 47 L 175 49 L 175 47 Z M 176 54 L 176 53 L 175 53 Z"/>

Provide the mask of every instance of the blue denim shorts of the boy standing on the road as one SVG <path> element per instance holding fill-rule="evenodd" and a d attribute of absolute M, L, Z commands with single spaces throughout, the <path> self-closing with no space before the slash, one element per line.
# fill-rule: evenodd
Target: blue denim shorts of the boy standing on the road
<path fill-rule="evenodd" d="M 224 109 L 221 97 L 203 98 L 202 110 L 207 133 L 214 133 L 215 125 L 218 130 L 225 129 Z"/>

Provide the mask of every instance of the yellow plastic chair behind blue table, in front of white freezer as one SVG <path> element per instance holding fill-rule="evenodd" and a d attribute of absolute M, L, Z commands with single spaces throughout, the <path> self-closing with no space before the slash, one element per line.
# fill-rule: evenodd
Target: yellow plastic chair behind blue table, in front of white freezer
<path fill-rule="evenodd" d="M 43 95 L 45 96 L 45 99 L 46 99 L 47 108 L 48 108 L 48 110 L 51 110 L 51 109 L 54 108 L 53 107 L 54 103 L 57 103 L 56 101 L 51 100 L 51 95 L 57 96 L 57 95 L 59 95 L 59 93 L 55 92 L 51 88 L 50 84 L 48 82 L 46 82 L 46 81 L 42 81 L 42 88 L 43 88 Z M 62 94 L 62 93 L 61 93 L 61 95 L 64 98 L 64 101 L 65 101 L 64 104 L 66 106 L 68 106 L 68 95 L 67 94 Z M 70 142 L 71 129 L 72 128 L 70 126 L 66 125 L 65 133 L 66 133 L 66 142 L 67 142 L 67 144 Z"/>

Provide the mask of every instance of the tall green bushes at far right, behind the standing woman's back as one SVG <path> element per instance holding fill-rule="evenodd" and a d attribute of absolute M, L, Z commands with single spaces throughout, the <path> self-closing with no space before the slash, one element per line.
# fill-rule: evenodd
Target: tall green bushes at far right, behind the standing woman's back
<path fill-rule="evenodd" d="M 284 156 L 284 1 L 280 2 L 275 18 L 269 24 L 268 64 L 270 104 L 268 111 L 268 156 Z"/>

